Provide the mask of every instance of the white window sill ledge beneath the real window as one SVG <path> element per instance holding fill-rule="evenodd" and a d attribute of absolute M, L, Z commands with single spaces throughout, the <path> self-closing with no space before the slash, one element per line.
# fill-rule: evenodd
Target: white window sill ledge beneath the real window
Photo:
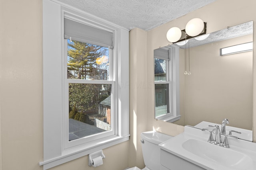
<path fill-rule="evenodd" d="M 86 145 L 76 146 L 69 149 L 65 149 L 62 151 L 62 155 L 52 158 L 50 160 L 44 160 L 39 162 L 39 165 L 44 166 L 44 170 L 52 168 L 54 166 L 58 166 L 70 160 L 74 160 L 76 158 L 80 158 L 82 156 L 88 155 L 92 152 L 96 152 L 98 150 L 102 150 L 119 143 L 125 142 L 129 140 L 130 135 L 126 135 L 124 137 L 120 136 L 112 136 L 104 139 L 100 139 L 98 141 L 94 141 L 92 143 L 88 143 Z"/>

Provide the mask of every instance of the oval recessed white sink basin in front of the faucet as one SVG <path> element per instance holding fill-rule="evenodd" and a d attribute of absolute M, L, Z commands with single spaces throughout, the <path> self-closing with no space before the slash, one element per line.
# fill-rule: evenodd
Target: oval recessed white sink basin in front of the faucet
<path fill-rule="evenodd" d="M 182 147 L 192 154 L 217 164 L 228 166 L 234 170 L 247 169 L 246 167 L 250 167 L 253 164 L 252 159 L 246 154 L 196 139 L 188 139 L 182 143 Z"/>

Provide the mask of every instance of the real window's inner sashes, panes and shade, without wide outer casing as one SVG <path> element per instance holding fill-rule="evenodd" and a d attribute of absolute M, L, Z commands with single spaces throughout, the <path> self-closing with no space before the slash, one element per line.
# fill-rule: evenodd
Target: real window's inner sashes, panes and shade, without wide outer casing
<path fill-rule="evenodd" d="M 113 49 L 113 32 L 64 13 L 65 148 L 115 134 Z"/>

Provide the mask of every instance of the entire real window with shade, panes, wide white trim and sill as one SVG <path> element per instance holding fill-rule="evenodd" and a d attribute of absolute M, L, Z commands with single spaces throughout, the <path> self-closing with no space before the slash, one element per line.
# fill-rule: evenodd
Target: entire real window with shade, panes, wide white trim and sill
<path fill-rule="evenodd" d="M 128 33 L 43 1 L 44 170 L 129 139 Z"/>

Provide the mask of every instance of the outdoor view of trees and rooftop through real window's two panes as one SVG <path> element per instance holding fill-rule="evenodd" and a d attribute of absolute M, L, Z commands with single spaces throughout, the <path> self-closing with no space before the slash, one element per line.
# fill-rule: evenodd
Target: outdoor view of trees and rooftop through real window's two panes
<path fill-rule="evenodd" d="M 69 140 L 110 130 L 108 48 L 68 39 L 67 68 L 68 79 L 84 80 L 68 84 Z M 106 84 L 88 83 L 86 80 L 106 80 Z"/>

